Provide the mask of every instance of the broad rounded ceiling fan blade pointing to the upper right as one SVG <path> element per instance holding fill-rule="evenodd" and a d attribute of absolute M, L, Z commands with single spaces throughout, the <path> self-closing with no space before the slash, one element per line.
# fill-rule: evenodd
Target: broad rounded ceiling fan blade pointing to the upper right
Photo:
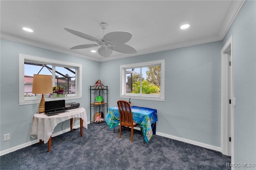
<path fill-rule="evenodd" d="M 106 34 L 103 37 L 105 42 L 110 42 L 111 45 L 118 45 L 128 42 L 132 38 L 132 34 L 126 31 L 115 31 Z"/>

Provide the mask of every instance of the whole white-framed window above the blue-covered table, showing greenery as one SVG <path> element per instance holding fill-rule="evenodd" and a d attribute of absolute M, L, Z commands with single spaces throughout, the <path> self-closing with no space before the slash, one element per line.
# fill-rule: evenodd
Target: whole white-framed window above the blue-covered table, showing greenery
<path fill-rule="evenodd" d="M 120 66 L 120 97 L 164 101 L 164 60 Z"/>

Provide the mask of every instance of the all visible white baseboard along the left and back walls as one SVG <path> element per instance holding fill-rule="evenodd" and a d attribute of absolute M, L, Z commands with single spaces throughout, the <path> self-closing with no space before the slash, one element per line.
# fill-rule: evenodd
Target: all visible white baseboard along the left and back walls
<path fill-rule="evenodd" d="M 90 122 L 88 122 L 88 124 L 90 124 Z M 80 125 L 76 125 L 73 128 L 80 128 Z M 138 128 L 138 130 L 140 130 L 140 129 Z M 70 128 L 66 128 L 65 130 L 63 130 L 64 133 L 68 132 L 68 131 L 70 131 Z M 60 131 L 60 132 L 53 133 L 52 137 L 63 134 L 63 132 Z M 196 141 L 188 140 L 188 139 L 185 139 L 185 138 L 180 138 L 180 137 L 172 136 L 172 135 L 169 135 L 169 134 L 164 134 L 164 133 L 161 133 L 161 132 L 156 132 L 156 135 L 163 136 L 163 137 L 166 137 L 166 138 L 171 138 L 171 139 L 178 140 L 178 141 L 181 141 L 181 142 L 186 142 L 186 143 L 189 143 L 189 144 L 194 144 L 196 146 L 201 146 L 201 147 L 204 147 L 204 148 L 208 148 L 208 149 L 212 149 L 212 150 L 216 150 L 218 152 L 221 152 L 220 147 L 212 146 L 212 145 L 209 145 L 209 144 L 204 144 L 204 143 L 201 143 L 201 142 L 196 142 Z M 32 144 L 36 144 L 38 142 L 39 142 L 39 139 L 35 139 L 35 140 L 30 141 L 30 142 L 27 142 L 27 143 L 24 143 L 24 144 L 21 144 L 21 145 L 3 150 L 3 151 L 0 152 L 0 156 L 11 153 L 11 152 L 14 152 L 14 151 L 22 149 L 22 148 L 25 148 L 25 147 L 30 146 Z"/>

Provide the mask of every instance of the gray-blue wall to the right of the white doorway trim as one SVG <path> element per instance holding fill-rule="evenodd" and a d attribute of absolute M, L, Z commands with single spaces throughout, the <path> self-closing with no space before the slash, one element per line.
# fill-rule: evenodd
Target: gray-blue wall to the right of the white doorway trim
<path fill-rule="evenodd" d="M 234 97 L 236 98 L 236 107 L 234 108 L 234 163 L 256 163 L 255 0 L 244 2 L 223 39 L 223 45 L 231 35 L 233 35 L 234 44 Z"/>

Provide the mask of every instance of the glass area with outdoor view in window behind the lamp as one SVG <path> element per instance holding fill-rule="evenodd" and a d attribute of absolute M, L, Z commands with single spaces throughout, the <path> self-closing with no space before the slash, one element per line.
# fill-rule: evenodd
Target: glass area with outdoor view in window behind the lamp
<path fill-rule="evenodd" d="M 55 69 L 55 86 L 63 88 L 66 94 L 76 93 L 76 69 L 24 62 L 24 97 L 42 95 L 32 94 L 33 76 L 34 74 L 52 75 L 53 69 Z"/>

